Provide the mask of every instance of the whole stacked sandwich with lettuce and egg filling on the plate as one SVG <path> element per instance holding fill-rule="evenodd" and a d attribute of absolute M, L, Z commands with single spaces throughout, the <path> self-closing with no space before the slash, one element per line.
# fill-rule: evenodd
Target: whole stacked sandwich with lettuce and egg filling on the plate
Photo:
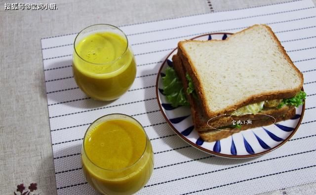
<path fill-rule="evenodd" d="M 295 116 L 303 75 L 271 28 L 254 25 L 225 40 L 184 40 L 163 89 L 172 106 L 190 106 L 204 141 Z"/>

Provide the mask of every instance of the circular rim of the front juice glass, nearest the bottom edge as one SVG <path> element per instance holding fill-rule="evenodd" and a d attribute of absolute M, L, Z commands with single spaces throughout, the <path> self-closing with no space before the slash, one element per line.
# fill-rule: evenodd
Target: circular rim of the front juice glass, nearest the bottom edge
<path fill-rule="evenodd" d="M 126 166 L 126 167 L 124 167 L 124 168 L 121 168 L 121 169 L 106 169 L 106 168 L 102 168 L 102 167 L 100 167 L 99 165 L 95 164 L 95 163 L 89 158 L 89 156 L 87 155 L 87 153 L 85 152 L 84 141 L 85 141 L 85 137 L 86 137 L 87 132 L 88 132 L 88 130 L 90 129 L 90 127 L 91 127 L 96 121 L 98 121 L 99 119 L 104 118 L 104 117 L 109 117 L 109 116 L 112 116 L 112 115 L 119 115 L 119 116 L 128 117 L 128 118 L 134 120 L 135 122 L 137 122 L 137 123 L 141 126 L 141 129 L 142 129 L 142 131 L 144 132 L 144 135 L 145 135 L 145 138 L 146 138 L 146 144 L 145 144 L 145 148 L 144 148 L 144 151 L 143 151 L 142 155 L 141 155 L 133 164 L 131 164 L 131 165 L 129 165 L 129 166 Z M 149 138 L 148 138 L 148 136 L 147 136 L 147 133 L 146 133 L 146 131 L 145 131 L 143 125 L 142 125 L 138 120 L 136 120 L 134 117 L 131 117 L 131 116 L 128 116 L 128 115 L 125 115 L 125 114 L 113 113 L 113 114 L 108 114 L 108 115 L 104 115 L 104 116 L 102 116 L 102 117 L 99 117 L 99 118 L 95 119 L 95 120 L 89 125 L 89 127 L 87 128 L 87 130 L 86 130 L 85 133 L 84 133 L 82 147 L 83 147 L 84 155 L 87 157 L 87 159 L 88 159 L 94 166 L 96 166 L 96 167 L 98 167 L 98 168 L 100 168 L 100 169 L 102 169 L 102 170 L 106 170 L 106 171 L 123 171 L 123 170 L 127 170 L 127 169 L 133 167 L 135 164 L 137 164 L 137 163 L 144 157 L 145 151 L 146 151 L 146 149 L 147 149 L 148 141 L 149 141 Z M 81 155 L 82 155 L 82 154 L 81 154 Z"/>

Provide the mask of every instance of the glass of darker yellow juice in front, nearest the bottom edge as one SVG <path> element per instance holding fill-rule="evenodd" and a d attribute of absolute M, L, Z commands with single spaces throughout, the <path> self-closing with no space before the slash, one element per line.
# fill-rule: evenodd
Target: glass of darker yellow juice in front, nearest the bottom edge
<path fill-rule="evenodd" d="M 87 182 L 104 195 L 130 195 L 143 188 L 154 168 L 152 145 L 134 118 L 112 114 L 87 129 L 81 150 Z"/>

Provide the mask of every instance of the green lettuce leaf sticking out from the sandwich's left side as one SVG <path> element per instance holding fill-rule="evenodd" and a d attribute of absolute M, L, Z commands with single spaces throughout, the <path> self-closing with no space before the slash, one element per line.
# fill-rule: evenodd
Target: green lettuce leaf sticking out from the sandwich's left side
<path fill-rule="evenodd" d="M 173 68 L 166 68 L 166 76 L 162 77 L 163 93 L 172 107 L 189 106 L 181 80 Z"/>

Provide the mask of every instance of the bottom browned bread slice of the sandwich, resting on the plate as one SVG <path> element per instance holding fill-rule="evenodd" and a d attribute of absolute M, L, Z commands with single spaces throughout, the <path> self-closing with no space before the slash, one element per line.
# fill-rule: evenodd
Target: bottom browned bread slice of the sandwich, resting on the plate
<path fill-rule="evenodd" d="M 281 120 L 287 120 L 295 116 L 295 108 L 291 108 L 285 115 L 276 117 L 276 122 Z M 253 120 L 251 124 L 242 125 L 240 129 L 238 128 L 225 128 L 222 130 L 208 130 L 198 132 L 200 138 L 207 142 L 214 142 L 217 140 L 221 140 L 227 138 L 234 133 L 238 133 L 243 130 L 247 130 L 250 128 L 260 127 L 260 126 L 267 126 L 273 124 L 275 120 L 273 118 L 267 118 L 265 120 Z"/>

